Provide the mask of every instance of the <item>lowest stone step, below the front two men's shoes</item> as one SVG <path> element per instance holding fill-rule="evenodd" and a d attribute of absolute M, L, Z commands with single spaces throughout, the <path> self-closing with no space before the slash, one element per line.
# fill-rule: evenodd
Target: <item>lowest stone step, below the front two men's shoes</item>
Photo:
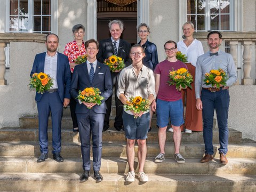
<path fill-rule="evenodd" d="M 103 181 L 96 182 L 93 173 L 81 182 L 79 174 L 4 173 L 0 175 L 2 191 L 204 191 L 241 192 L 256 191 L 255 175 L 172 175 L 148 174 L 148 182 L 126 182 L 126 175 L 102 174 Z"/>

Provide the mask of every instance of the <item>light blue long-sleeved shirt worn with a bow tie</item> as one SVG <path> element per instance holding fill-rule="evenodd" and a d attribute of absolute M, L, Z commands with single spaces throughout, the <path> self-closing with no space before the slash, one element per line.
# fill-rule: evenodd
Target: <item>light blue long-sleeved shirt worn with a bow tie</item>
<path fill-rule="evenodd" d="M 212 69 L 218 70 L 221 68 L 225 71 L 229 77 L 226 86 L 231 86 L 237 81 L 235 62 L 231 54 L 220 50 L 218 54 L 218 56 L 210 56 L 210 51 L 208 51 L 197 58 L 195 76 L 196 99 L 200 98 L 201 87 L 211 87 L 211 85 L 205 85 L 204 74 L 210 73 Z"/>

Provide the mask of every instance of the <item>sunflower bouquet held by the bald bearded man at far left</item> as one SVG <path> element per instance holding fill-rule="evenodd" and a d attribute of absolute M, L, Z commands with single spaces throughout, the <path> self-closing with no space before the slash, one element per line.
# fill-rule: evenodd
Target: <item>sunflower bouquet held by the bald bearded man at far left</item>
<path fill-rule="evenodd" d="M 30 78 L 30 90 L 36 89 L 37 93 L 43 94 L 45 91 L 49 91 L 53 85 L 52 78 L 45 73 L 34 73 Z"/>

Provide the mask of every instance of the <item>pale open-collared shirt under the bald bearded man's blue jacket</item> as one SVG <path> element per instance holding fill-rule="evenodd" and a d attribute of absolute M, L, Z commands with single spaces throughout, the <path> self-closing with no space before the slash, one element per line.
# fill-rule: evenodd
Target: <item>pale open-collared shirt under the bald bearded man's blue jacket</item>
<path fill-rule="evenodd" d="M 44 73 L 47 75 L 50 75 L 50 77 L 53 79 L 52 87 L 51 89 L 58 89 L 57 84 L 57 60 L 58 60 L 58 52 L 51 57 L 47 54 L 45 55 L 45 61 L 44 61 Z"/>

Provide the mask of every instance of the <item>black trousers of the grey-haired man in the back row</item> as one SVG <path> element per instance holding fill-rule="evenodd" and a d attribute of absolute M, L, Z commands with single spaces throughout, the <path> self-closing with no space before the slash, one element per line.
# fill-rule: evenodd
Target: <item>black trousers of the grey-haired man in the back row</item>
<path fill-rule="evenodd" d="M 116 95 L 117 90 L 118 90 L 119 73 L 112 73 L 111 72 L 111 78 L 112 78 L 112 82 L 113 82 L 113 89 L 115 87 L 116 117 L 115 117 L 114 127 L 116 127 L 116 128 L 123 125 L 122 115 L 123 115 L 123 109 L 124 109 L 123 103 L 118 99 L 118 97 Z M 106 112 L 105 119 L 104 119 L 104 129 L 107 130 L 109 128 L 109 117 L 110 117 L 110 113 L 111 113 L 112 97 L 109 97 L 105 101 L 105 103 L 106 103 L 107 112 Z"/>

